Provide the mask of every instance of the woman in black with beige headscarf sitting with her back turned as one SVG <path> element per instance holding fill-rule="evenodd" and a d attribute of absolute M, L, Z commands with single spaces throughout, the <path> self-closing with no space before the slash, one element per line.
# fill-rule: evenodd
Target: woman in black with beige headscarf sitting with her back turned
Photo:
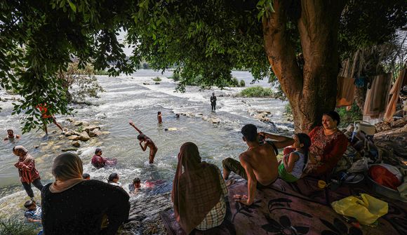
<path fill-rule="evenodd" d="M 41 191 L 44 234 L 115 234 L 128 218 L 128 194 L 120 187 L 82 178 L 76 154 L 60 154 L 53 162 L 55 182 Z M 102 218 L 109 224 L 101 229 Z"/>

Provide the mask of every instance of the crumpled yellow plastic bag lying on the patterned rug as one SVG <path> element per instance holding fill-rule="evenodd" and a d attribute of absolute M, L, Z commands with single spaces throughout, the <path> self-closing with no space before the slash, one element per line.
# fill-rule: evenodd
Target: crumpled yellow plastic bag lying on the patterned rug
<path fill-rule="evenodd" d="M 361 194 L 359 197 L 348 196 L 345 199 L 334 201 L 331 205 L 336 213 L 354 217 L 361 224 L 373 224 L 389 210 L 387 202 L 369 194 Z"/>

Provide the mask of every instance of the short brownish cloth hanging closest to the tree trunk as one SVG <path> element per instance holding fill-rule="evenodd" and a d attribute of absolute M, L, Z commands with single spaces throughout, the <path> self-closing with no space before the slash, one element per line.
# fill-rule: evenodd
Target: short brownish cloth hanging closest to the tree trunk
<path fill-rule="evenodd" d="M 352 105 L 354 101 L 354 78 L 338 76 L 338 93 L 336 95 L 336 107 Z"/>

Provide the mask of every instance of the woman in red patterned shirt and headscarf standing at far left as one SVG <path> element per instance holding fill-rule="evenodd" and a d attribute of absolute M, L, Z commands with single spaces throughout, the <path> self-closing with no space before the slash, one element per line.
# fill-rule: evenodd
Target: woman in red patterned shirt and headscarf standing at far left
<path fill-rule="evenodd" d="M 38 170 L 35 168 L 34 158 L 29 155 L 28 150 L 22 145 L 13 147 L 13 154 L 18 156 L 18 162 L 15 163 L 14 166 L 18 169 L 18 175 L 20 175 L 22 187 L 24 187 L 28 196 L 33 199 L 34 192 L 32 192 L 31 184 L 40 191 L 43 187 Z"/>

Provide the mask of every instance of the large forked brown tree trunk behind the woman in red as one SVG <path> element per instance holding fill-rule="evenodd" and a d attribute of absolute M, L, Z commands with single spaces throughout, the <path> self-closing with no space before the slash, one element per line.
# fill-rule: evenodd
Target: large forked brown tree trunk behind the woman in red
<path fill-rule="evenodd" d="M 291 1 L 274 0 L 274 10 L 263 20 L 265 51 L 293 110 L 295 132 L 309 132 L 321 123 L 323 112 L 335 108 L 338 76 L 338 26 L 345 6 L 341 0 L 302 0 L 298 29 L 304 68 L 286 24 Z"/>

